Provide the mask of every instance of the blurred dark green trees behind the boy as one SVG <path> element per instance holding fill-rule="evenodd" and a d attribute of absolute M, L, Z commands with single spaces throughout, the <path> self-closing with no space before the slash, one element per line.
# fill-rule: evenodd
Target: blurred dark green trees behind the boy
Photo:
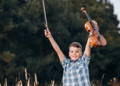
<path fill-rule="evenodd" d="M 73 41 L 80 42 L 84 51 L 87 18 L 80 8 L 87 9 L 108 42 L 92 49 L 92 86 L 117 86 L 112 82 L 120 79 L 120 20 L 113 0 L 45 0 L 45 5 L 48 27 L 65 55 Z M 0 83 L 6 78 L 10 86 L 25 82 L 26 68 L 31 83 L 36 73 L 39 86 L 49 86 L 51 80 L 61 85 L 63 69 L 44 29 L 42 0 L 0 0 Z"/>

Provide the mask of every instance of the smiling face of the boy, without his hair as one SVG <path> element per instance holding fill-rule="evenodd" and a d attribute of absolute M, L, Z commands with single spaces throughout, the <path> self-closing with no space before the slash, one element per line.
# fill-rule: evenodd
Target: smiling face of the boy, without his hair
<path fill-rule="evenodd" d="M 73 47 L 73 46 L 71 46 L 69 48 L 69 57 L 71 60 L 75 61 L 78 58 L 80 58 L 80 56 L 82 56 L 81 48 L 77 48 L 77 47 Z"/>

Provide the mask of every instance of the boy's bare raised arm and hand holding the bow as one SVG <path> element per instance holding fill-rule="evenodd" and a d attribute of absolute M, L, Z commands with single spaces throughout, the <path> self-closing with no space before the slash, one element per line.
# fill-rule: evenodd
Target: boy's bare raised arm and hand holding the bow
<path fill-rule="evenodd" d="M 48 28 L 46 28 L 44 30 L 44 34 L 48 38 L 48 40 L 50 41 L 55 52 L 57 53 L 57 55 L 60 59 L 60 62 L 63 62 L 65 56 L 64 56 L 62 50 L 60 49 L 60 47 L 58 46 L 58 44 L 56 43 L 56 41 L 54 40 L 54 38 L 53 38 L 53 36 Z"/>

